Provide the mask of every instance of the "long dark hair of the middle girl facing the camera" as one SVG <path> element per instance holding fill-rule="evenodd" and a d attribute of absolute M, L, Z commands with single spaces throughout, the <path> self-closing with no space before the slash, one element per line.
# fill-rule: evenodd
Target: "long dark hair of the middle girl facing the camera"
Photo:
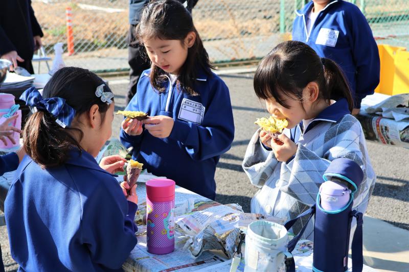
<path fill-rule="evenodd" d="M 197 67 L 201 67 L 210 75 L 209 55 L 203 47 L 194 24 L 192 15 L 179 2 L 175 0 L 154 1 L 148 4 L 142 11 L 141 20 L 136 29 L 137 38 L 143 42 L 146 39 L 159 38 L 162 40 L 180 40 L 182 43 L 190 32 L 196 34 L 192 47 L 188 48 L 188 57 L 182 65 L 177 78 L 180 87 L 184 87 L 187 93 L 197 95 L 194 91 L 194 81 Z M 142 52 L 146 55 L 145 47 Z M 164 82 L 166 72 L 152 63 L 150 82 L 158 91 L 165 91 Z"/>

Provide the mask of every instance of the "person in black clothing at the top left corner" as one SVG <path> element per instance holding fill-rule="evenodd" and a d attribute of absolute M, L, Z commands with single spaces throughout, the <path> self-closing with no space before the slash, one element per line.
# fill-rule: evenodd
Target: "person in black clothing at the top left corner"
<path fill-rule="evenodd" d="M 31 60 L 43 36 L 31 0 L 0 2 L 0 58 L 10 60 L 11 70 L 20 66 L 34 73 Z"/>

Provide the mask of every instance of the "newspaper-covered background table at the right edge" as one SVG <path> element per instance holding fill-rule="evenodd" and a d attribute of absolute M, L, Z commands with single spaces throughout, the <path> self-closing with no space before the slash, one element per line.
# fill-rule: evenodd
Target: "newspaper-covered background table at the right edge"
<path fill-rule="evenodd" d="M 374 93 L 362 100 L 357 119 L 361 123 L 365 138 L 382 144 L 409 148 L 409 119 L 396 121 L 381 115 L 366 112 L 366 109 L 390 98 L 390 95 Z"/>

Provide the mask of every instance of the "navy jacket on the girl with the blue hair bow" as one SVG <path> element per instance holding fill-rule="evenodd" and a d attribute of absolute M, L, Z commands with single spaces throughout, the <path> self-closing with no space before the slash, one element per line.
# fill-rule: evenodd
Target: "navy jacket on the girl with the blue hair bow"
<path fill-rule="evenodd" d="M 122 271 L 138 207 L 90 154 L 69 155 L 47 169 L 21 161 L 5 202 L 11 255 L 20 271 Z"/>

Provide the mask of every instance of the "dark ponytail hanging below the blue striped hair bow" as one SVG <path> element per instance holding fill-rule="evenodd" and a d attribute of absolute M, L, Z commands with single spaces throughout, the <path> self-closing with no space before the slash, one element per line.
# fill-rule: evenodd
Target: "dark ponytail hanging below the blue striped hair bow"
<path fill-rule="evenodd" d="M 64 129 L 50 113 L 37 111 L 30 116 L 24 128 L 24 149 L 41 168 L 61 165 L 68 159 L 67 154 L 73 145 L 81 153 L 81 146 L 70 131 L 78 132 L 80 139 L 83 137 L 80 129 Z"/>

